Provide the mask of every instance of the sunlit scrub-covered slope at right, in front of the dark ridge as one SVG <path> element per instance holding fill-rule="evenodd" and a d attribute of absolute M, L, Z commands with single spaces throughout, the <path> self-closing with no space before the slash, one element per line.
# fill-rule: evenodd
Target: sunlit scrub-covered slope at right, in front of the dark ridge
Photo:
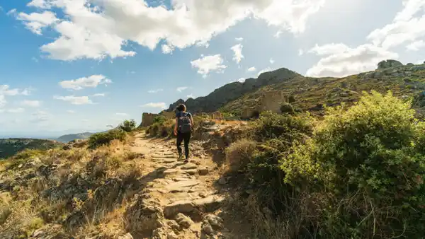
<path fill-rule="evenodd" d="M 381 64 L 382 65 L 382 64 Z M 222 112 L 242 115 L 246 108 L 255 109 L 261 95 L 277 91 L 283 95 L 292 95 L 291 104 L 300 109 L 322 114 L 322 105 L 339 105 L 344 102 L 351 105 L 360 97 L 362 91 L 386 93 L 391 90 L 394 95 L 414 98 L 416 110 L 421 111 L 422 92 L 425 91 L 425 64 L 380 66 L 369 71 L 344 78 L 298 77 L 289 81 L 263 86 L 251 93 L 232 100 L 221 107 Z"/>

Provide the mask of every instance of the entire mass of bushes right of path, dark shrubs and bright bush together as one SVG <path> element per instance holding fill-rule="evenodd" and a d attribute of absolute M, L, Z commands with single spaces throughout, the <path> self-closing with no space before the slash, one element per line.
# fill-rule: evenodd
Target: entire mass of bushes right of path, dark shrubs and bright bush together
<path fill-rule="evenodd" d="M 252 141 L 235 142 L 227 157 L 244 161 L 237 165 L 245 187 L 258 189 L 254 202 L 274 215 L 264 223 L 257 220 L 266 212 L 250 211 L 260 235 L 424 235 L 425 123 L 410 103 L 373 92 L 353 107 L 327 107 L 322 121 L 267 113 L 254 129 Z"/>

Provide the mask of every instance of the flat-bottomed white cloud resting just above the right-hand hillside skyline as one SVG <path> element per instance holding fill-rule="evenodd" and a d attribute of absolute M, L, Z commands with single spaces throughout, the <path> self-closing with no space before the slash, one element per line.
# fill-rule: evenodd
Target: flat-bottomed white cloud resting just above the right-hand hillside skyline
<path fill-rule="evenodd" d="M 316 45 L 309 52 L 324 56 L 307 70 L 307 76 L 315 77 L 342 77 L 357 74 L 361 71 L 376 69 L 378 62 L 382 60 L 398 58 L 397 53 L 371 44 L 350 48 L 344 44 L 331 43 Z"/>

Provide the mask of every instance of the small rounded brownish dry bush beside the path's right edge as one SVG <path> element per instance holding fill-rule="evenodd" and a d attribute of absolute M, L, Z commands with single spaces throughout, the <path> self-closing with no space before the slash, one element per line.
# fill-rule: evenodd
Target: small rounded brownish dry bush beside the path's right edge
<path fill-rule="evenodd" d="M 239 139 L 226 148 L 226 161 L 232 170 L 244 169 L 252 160 L 256 151 L 256 142 Z"/>

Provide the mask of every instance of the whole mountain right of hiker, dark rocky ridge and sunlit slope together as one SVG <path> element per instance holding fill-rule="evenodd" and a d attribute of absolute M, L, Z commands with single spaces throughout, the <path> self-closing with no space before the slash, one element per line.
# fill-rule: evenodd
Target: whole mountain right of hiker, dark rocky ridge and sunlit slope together
<path fill-rule="evenodd" d="M 242 116 L 244 110 L 255 112 L 265 93 L 292 96 L 291 103 L 300 110 L 322 114 L 323 105 L 348 105 L 356 102 L 362 91 L 375 90 L 385 93 L 391 90 L 397 96 L 413 97 L 421 101 L 425 91 L 425 64 L 406 64 L 394 60 L 382 61 L 375 71 L 343 78 L 312 78 L 285 68 L 265 72 L 259 78 L 248 78 L 244 83 L 233 82 L 217 88 L 205 97 L 178 100 L 166 111 L 172 111 L 179 103 L 185 103 L 191 112 L 221 112 Z M 280 100 L 280 99 L 276 99 Z M 422 103 L 416 102 L 421 111 Z M 425 103 L 424 103 L 425 105 Z"/>

